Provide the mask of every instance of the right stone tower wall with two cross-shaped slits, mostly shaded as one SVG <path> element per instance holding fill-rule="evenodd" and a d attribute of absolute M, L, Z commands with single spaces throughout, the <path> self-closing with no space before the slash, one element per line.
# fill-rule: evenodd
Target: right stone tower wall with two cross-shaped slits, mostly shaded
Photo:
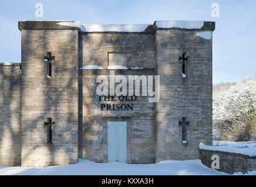
<path fill-rule="evenodd" d="M 156 68 L 160 101 L 156 103 L 156 161 L 199 157 L 200 142 L 211 144 L 212 40 L 196 36 L 199 30 L 156 31 Z M 186 52 L 187 77 L 179 57 Z M 187 144 L 178 122 L 186 117 Z"/>

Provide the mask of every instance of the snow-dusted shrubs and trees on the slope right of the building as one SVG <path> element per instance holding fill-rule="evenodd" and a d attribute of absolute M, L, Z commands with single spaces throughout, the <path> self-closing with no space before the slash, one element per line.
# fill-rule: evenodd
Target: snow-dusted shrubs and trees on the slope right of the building
<path fill-rule="evenodd" d="M 213 92 L 214 137 L 248 141 L 254 138 L 256 125 L 256 78 L 251 76 L 225 89 Z M 214 89 L 214 88 L 213 88 Z"/>

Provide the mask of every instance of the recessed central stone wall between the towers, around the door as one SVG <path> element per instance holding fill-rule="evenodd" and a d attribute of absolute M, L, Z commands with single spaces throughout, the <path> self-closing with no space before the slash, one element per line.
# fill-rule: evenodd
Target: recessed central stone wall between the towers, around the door
<path fill-rule="evenodd" d="M 82 36 L 82 65 L 100 65 L 103 70 L 83 70 L 83 158 L 107 162 L 107 122 L 127 122 L 127 163 L 155 162 L 155 103 L 147 96 L 136 101 L 99 101 L 97 75 L 154 75 L 154 34 L 87 33 Z M 129 70 L 107 70 L 108 52 L 127 53 Z M 143 67 L 142 70 L 133 70 Z M 143 88 L 146 89 L 146 88 Z M 101 110 L 100 105 L 133 104 L 133 110 Z"/>

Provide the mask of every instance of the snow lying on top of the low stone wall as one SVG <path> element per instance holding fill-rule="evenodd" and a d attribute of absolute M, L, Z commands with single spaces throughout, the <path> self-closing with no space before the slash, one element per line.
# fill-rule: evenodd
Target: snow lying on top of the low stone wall
<path fill-rule="evenodd" d="M 249 145 L 250 143 L 247 143 Z M 241 146 L 242 145 L 242 146 Z M 206 146 L 203 143 L 199 144 L 200 150 L 222 151 L 227 153 L 243 154 L 250 157 L 256 156 L 256 143 L 252 143 L 250 146 L 244 146 L 245 144 L 228 144 L 223 146 Z"/>

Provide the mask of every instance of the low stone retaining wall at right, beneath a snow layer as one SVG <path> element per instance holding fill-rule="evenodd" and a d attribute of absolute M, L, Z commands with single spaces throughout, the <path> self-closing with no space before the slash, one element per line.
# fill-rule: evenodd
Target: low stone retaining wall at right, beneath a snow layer
<path fill-rule="evenodd" d="M 222 151 L 211 151 L 200 149 L 200 159 L 204 165 L 211 168 L 211 157 L 218 155 L 220 158 L 220 168 L 218 171 L 223 171 L 228 174 L 234 174 L 235 172 L 242 172 L 256 170 L 256 157 L 250 157 L 248 155 L 227 153 Z"/>

